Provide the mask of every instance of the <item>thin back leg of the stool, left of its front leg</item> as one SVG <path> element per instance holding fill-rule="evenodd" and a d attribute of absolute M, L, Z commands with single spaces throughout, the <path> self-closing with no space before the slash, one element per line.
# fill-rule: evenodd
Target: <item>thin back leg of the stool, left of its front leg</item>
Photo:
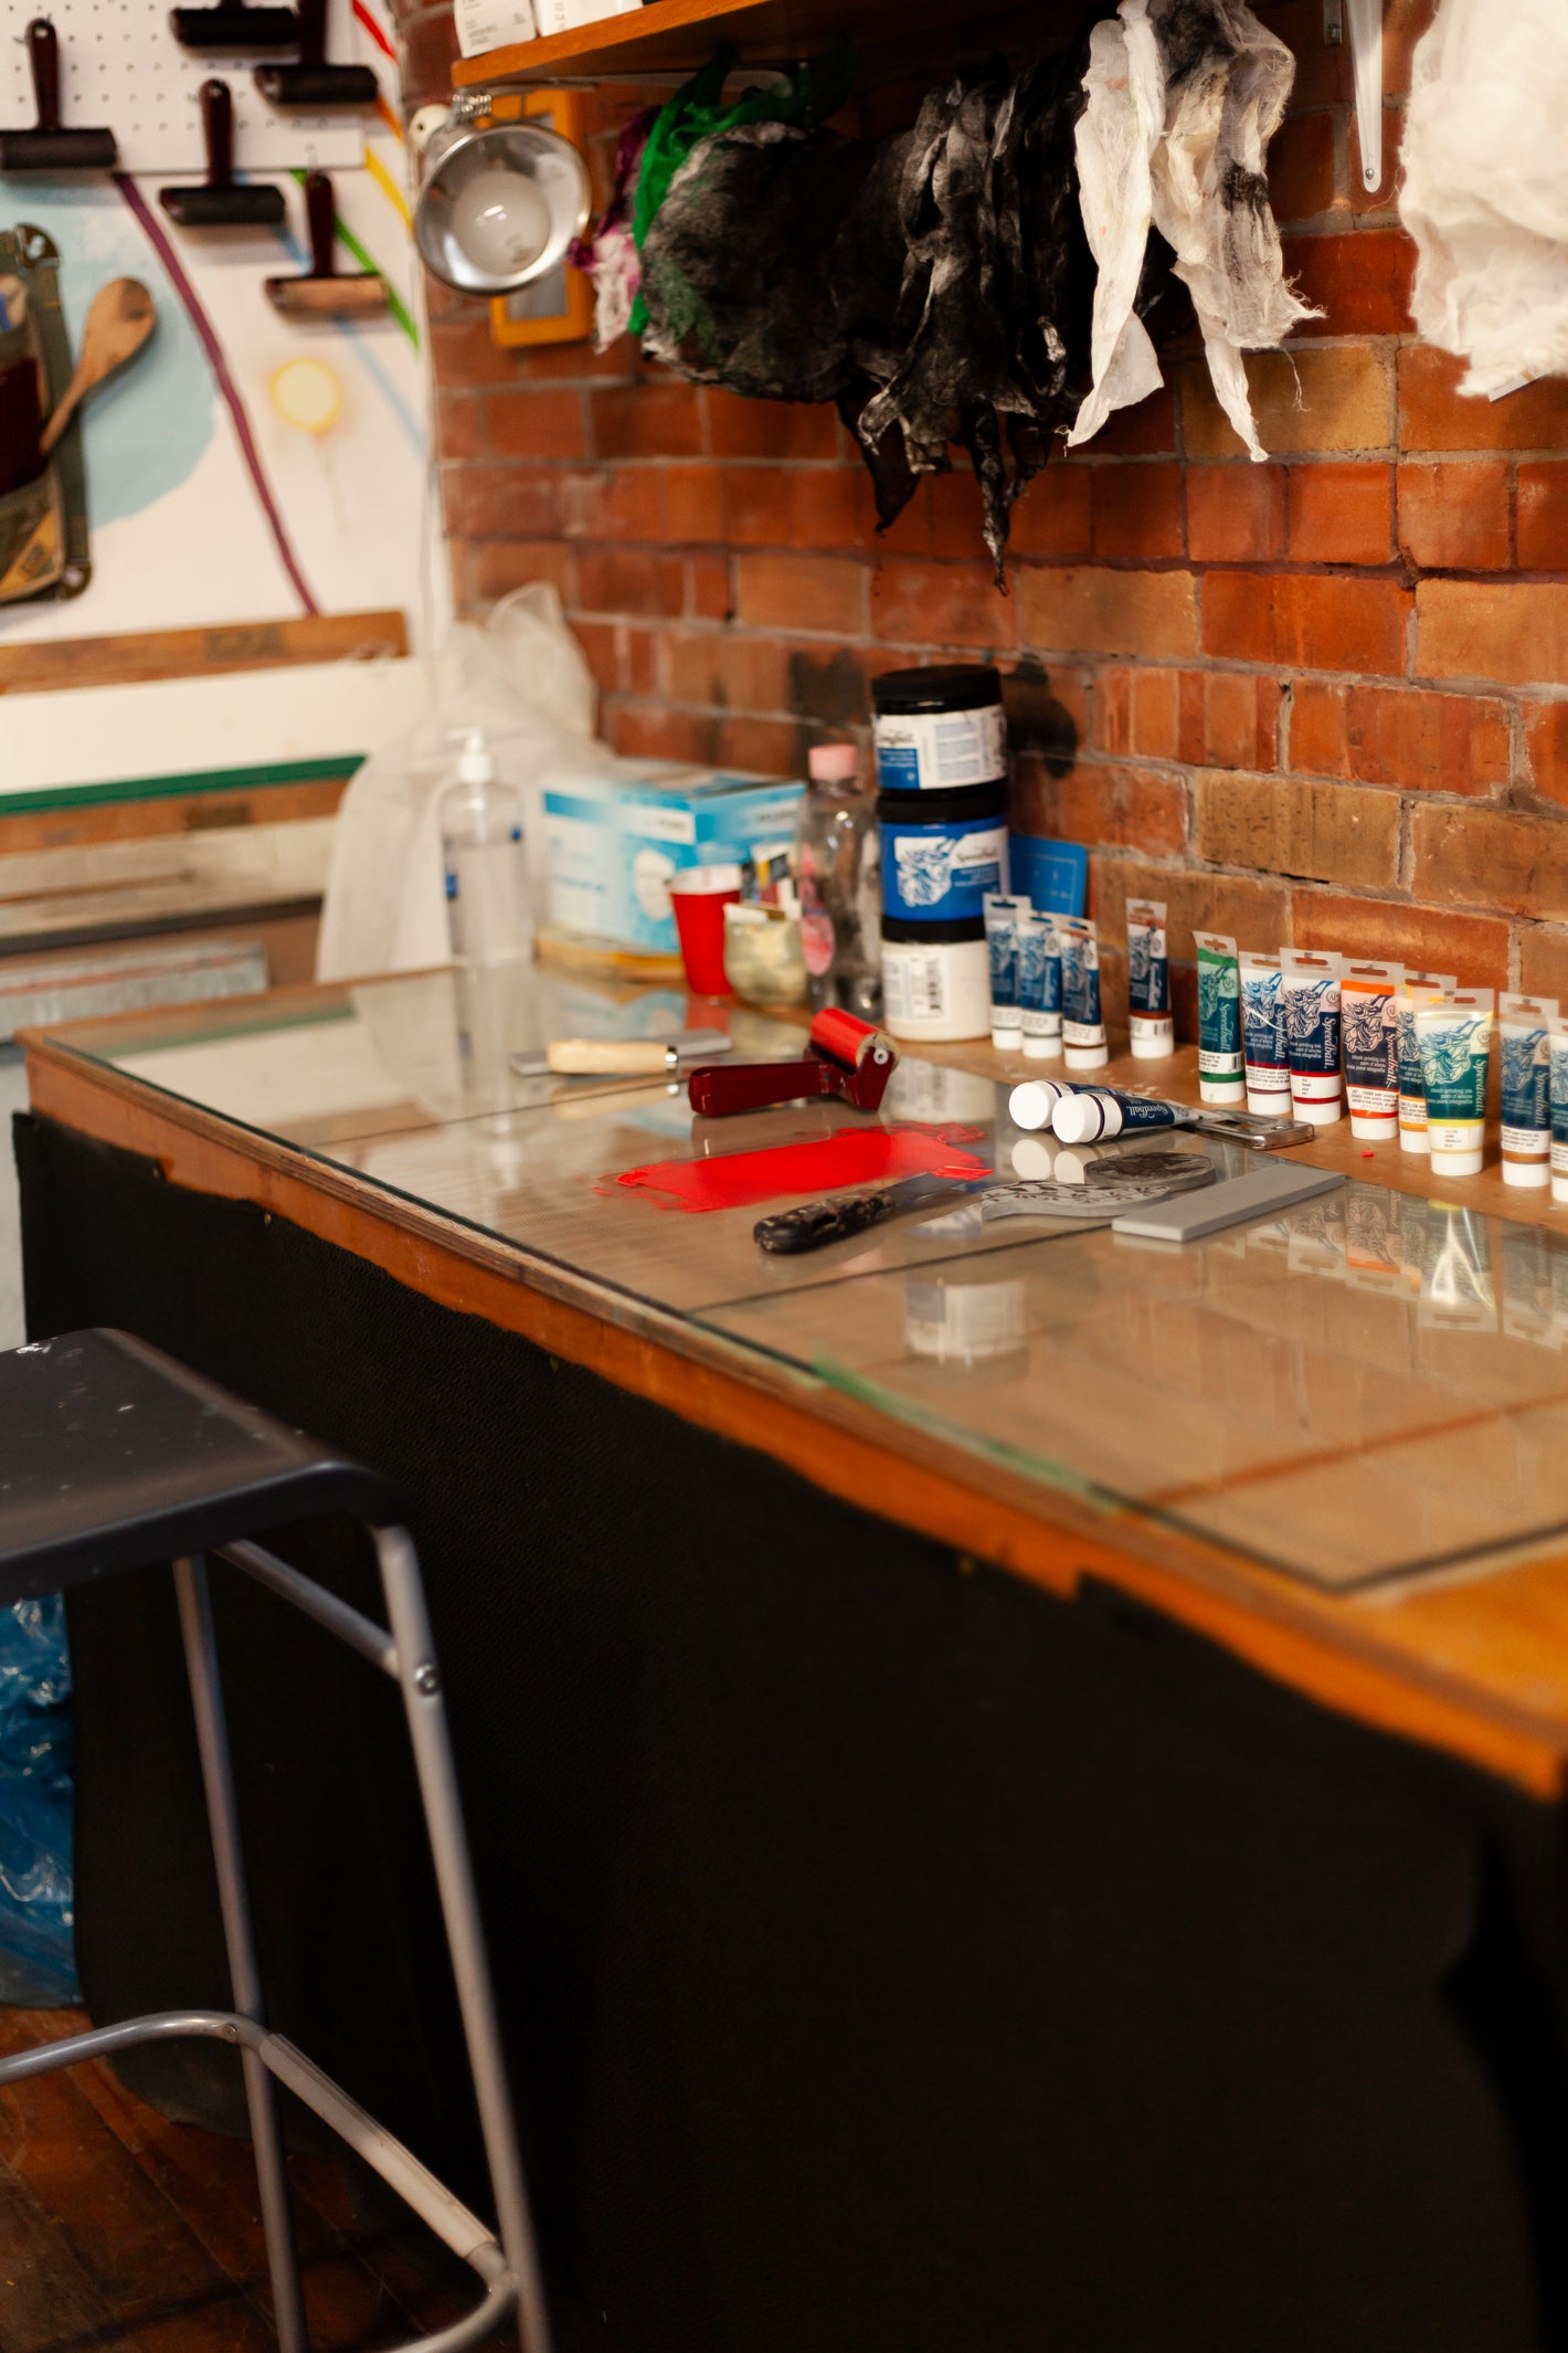
<path fill-rule="evenodd" d="M 219 1649 L 212 1631 L 212 1593 L 207 1586 L 207 1562 L 174 1562 L 174 1591 L 179 1598 L 179 1626 L 186 1640 L 186 1675 L 190 1678 L 190 1706 L 195 1711 L 195 1741 L 202 1753 L 202 1786 L 207 1791 L 207 1821 L 212 1826 L 212 1859 L 219 1871 L 219 1904 L 223 1908 L 223 1944 L 228 1946 L 228 1977 L 235 1993 L 235 2009 L 266 2026 L 261 2007 L 261 1967 L 256 1962 L 256 1929 L 252 1925 L 252 1901 L 244 1882 L 244 1849 L 240 1845 L 240 1809 L 235 1805 L 235 1772 L 228 1751 L 228 1715 L 223 1708 L 223 1685 L 219 1680 Z M 299 2254 L 294 2249 L 294 2214 L 289 2209 L 289 2174 L 282 2155 L 282 2129 L 277 2122 L 277 2087 L 259 2052 L 240 2054 L 244 2068 L 244 2106 L 252 2125 L 252 2155 L 256 2160 L 256 2191 L 261 2195 L 261 2231 L 266 2238 L 266 2261 L 273 2280 L 273 2315 L 277 2320 L 280 2353 L 310 2353 L 306 2334 L 306 2306 L 299 2292 Z"/>

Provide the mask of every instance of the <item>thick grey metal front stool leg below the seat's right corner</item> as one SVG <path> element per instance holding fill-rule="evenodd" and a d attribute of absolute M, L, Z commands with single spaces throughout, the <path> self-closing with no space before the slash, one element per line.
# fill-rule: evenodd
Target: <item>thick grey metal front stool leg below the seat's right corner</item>
<path fill-rule="evenodd" d="M 435 1664 L 435 1642 L 430 1640 L 418 1555 L 409 1532 L 402 1527 L 376 1527 L 371 1534 L 376 1539 L 393 1642 L 397 1645 L 397 1680 L 409 1715 L 414 1769 L 418 1772 L 418 1793 L 435 1857 L 435 1880 L 442 1897 L 458 2007 L 463 2012 L 468 2066 L 480 2104 L 480 2129 L 484 2132 L 501 2247 L 517 2282 L 517 2329 L 524 2353 L 550 2353 L 550 2318 L 538 2278 L 534 2224 L 529 2219 L 529 2195 L 517 2153 L 517 2127 L 505 2082 L 496 1998 L 484 1953 L 484 1929 L 473 1885 L 463 1805 L 451 1762 L 451 1739 L 447 1737 L 447 1704 Z"/>

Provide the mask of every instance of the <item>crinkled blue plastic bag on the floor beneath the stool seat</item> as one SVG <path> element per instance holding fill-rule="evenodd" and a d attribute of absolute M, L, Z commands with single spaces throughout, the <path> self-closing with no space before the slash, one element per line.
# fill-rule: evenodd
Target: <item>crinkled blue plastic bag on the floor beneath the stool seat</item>
<path fill-rule="evenodd" d="M 0 2002 L 75 2002 L 66 1605 L 0 1609 Z"/>

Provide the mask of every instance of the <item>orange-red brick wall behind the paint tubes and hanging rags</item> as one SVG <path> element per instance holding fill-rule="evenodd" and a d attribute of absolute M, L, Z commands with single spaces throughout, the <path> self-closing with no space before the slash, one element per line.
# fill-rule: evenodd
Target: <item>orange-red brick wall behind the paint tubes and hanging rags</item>
<path fill-rule="evenodd" d="M 1385 153 L 1432 0 L 1389 0 Z M 1298 54 L 1272 155 L 1286 256 L 1326 318 L 1251 365 L 1251 466 L 1192 353 L 1168 391 L 1016 511 L 1011 595 L 973 482 L 877 539 L 830 409 L 743 402 L 630 346 L 498 353 L 433 287 L 458 600 L 552 579 L 623 751 L 799 774 L 863 725 L 879 668 L 997 656 L 1077 751 L 1020 762 L 1020 812 L 1128 892 L 1244 946 L 1333 946 L 1568 1000 L 1568 384 L 1495 405 L 1406 327 L 1410 247 L 1368 205 L 1349 56 L 1321 0 L 1265 19 Z M 407 26 L 444 87 L 442 7 Z M 599 144 L 637 94 L 604 94 Z M 907 120 L 907 115 L 905 115 Z M 1048 694 L 1039 668 L 1048 673 Z"/>

